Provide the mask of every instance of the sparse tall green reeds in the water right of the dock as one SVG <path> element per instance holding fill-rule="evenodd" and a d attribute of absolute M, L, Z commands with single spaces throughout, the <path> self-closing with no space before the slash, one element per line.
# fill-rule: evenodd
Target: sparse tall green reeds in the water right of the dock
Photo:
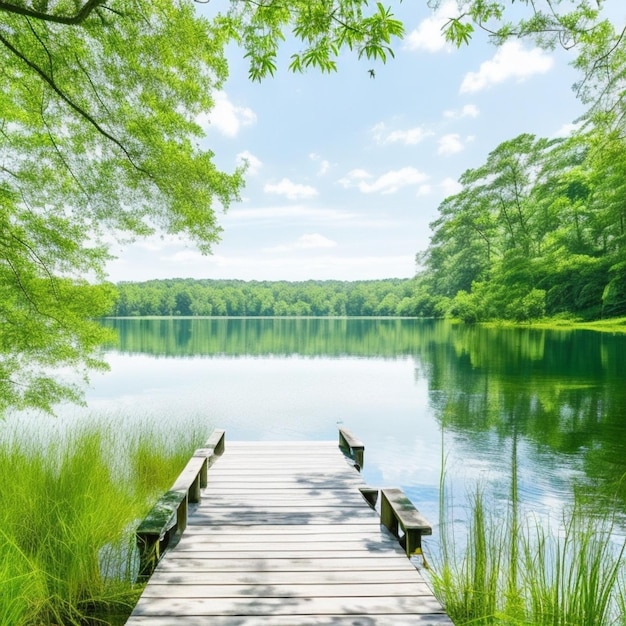
<path fill-rule="evenodd" d="M 435 594 L 456 626 L 613 626 L 626 624 L 624 545 L 610 518 L 574 507 L 552 530 L 517 507 L 504 516 L 470 498 L 466 546 L 442 537 L 431 556 Z"/>

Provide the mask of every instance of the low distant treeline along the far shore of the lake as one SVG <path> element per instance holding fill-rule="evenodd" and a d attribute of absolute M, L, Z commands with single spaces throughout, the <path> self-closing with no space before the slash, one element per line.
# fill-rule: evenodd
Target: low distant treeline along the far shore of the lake
<path fill-rule="evenodd" d="M 176 278 L 118 283 L 112 315 L 408 316 L 417 314 L 412 279 L 243 281 Z"/>

